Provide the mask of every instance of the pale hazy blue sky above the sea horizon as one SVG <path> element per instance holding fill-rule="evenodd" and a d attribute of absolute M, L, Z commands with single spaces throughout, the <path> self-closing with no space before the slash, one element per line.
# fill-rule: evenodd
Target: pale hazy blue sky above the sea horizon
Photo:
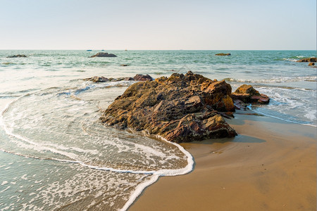
<path fill-rule="evenodd" d="M 0 49 L 316 50 L 316 0 L 0 0 Z"/>

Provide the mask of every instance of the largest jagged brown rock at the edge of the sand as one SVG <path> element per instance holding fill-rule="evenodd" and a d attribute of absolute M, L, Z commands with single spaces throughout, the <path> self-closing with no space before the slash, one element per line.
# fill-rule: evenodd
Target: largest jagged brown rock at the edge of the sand
<path fill-rule="evenodd" d="M 104 111 L 100 120 L 118 129 L 130 128 L 177 143 L 232 137 L 218 111 L 232 111 L 231 87 L 202 75 L 174 73 L 132 84 Z"/>

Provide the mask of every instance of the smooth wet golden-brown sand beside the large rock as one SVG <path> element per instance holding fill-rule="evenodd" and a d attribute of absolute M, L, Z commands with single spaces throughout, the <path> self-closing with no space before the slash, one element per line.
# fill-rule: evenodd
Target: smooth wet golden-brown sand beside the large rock
<path fill-rule="evenodd" d="M 129 210 L 316 210 L 316 127 L 235 117 L 237 137 L 182 143 L 193 172 L 161 177 Z"/>

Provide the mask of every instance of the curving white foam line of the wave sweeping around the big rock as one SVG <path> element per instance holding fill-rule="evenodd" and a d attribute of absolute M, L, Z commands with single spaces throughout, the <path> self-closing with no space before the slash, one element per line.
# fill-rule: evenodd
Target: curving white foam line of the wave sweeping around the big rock
<path fill-rule="evenodd" d="M 119 82 L 120 83 L 120 82 Z M 113 84 L 119 84 L 118 82 L 113 83 Z M 101 85 L 100 87 L 106 87 L 106 85 Z M 88 88 L 87 88 L 88 87 Z M 83 89 L 73 89 L 74 93 L 76 93 L 76 91 L 86 91 L 89 89 L 93 89 L 97 86 L 92 86 L 89 87 L 87 86 Z M 51 88 L 51 89 L 55 89 Z M 87 89 L 86 89 L 87 88 Z M 53 90 L 53 93 L 56 90 Z M 43 96 L 43 91 L 39 91 L 37 92 L 36 95 L 38 96 Z M 20 134 L 15 134 L 15 132 L 13 132 L 13 129 L 11 129 L 8 125 L 6 125 L 6 122 L 4 120 L 4 115 L 8 112 L 8 110 L 11 108 L 11 106 L 15 105 L 15 103 L 17 101 L 19 101 L 21 98 L 25 97 L 25 96 L 30 96 L 30 94 L 25 94 L 23 96 L 20 96 L 18 98 L 15 98 L 13 101 L 11 101 L 10 103 L 7 103 L 5 108 L 3 110 L 1 110 L 0 113 L 0 126 L 4 128 L 4 131 L 6 132 L 6 134 L 8 136 L 12 136 L 15 139 L 18 139 L 20 141 L 26 142 L 28 145 L 32 145 L 35 146 L 39 151 L 50 151 L 52 153 L 56 153 L 59 155 L 63 155 L 66 156 L 66 158 L 70 158 L 70 159 L 59 159 L 59 158 L 44 158 L 44 157 L 39 157 L 37 156 L 32 156 L 32 155 L 25 155 L 23 153 L 17 153 L 17 152 L 13 152 L 13 151 L 8 151 L 4 148 L 0 148 L 0 151 L 6 152 L 6 153 L 12 153 L 15 155 L 19 155 L 19 156 L 23 156 L 25 158 L 33 158 L 33 159 L 38 159 L 38 160 L 51 160 L 54 162 L 69 162 L 69 163 L 75 163 L 77 165 L 81 165 L 83 167 L 87 167 L 89 169 L 92 170 L 101 170 L 101 171 L 108 171 L 108 172 L 117 172 L 117 173 L 132 173 L 132 174 L 147 174 L 147 175 L 152 175 L 151 179 L 149 181 L 145 181 L 142 182 L 141 184 L 137 185 L 135 188 L 135 191 L 132 192 L 132 194 L 130 195 L 128 201 L 125 203 L 125 205 L 123 206 L 123 208 L 121 210 L 128 210 L 128 207 L 130 207 L 130 205 L 132 205 L 132 203 L 136 200 L 136 198 L 142 193 L 142 191 L 144 191 L 144 188 L 146 188 L 147 186 L 153 184 L 155 181 L 157 181 L 157 179 L 159 179 L 159 177 L 163 177 L 163 176 L 176 176 L 176 175 L 180 175 L 180 174 L 187 174 L 189 172 L 192 172 L 193 168 L 194 168 L 194 159 L 192 157 L 192 155 L 187 152 L 185 150 L 185 148 L 183 148 L 182 146 L 180 146 L 178 143 L 173 143 L 170 141 L 167 141 L 166 139 L 163 139 L 161 136 L 157 136 L 158 139 L 161 139 L 163 141 L 166 141 L 167 143 L 173 144 L 173 146 L 176 146 L 187 158 L 187 165 L 185 167 L 182 168 L 178 168 L 178 169 L 161 169 L 161 170 L 130 170 L 130 169 L 118 169 L 118 168 L 113 168 L 113 167 L 108 167 L 108 166 L 99 166 L 99 165 L 91 165 L 87 162 L 84 162 L 82 160 L 80 160 L 80 158 L 75 155 L 74 153 L 70 153 L 70 152 L 66 152 L 63 150 L 58 150 L 56 148 L 52 148 L 50 146 L 44 146 L 41 143 L 36 143 L 35 141 L 32 141 L 31 139 L 27 139 L 25 136 L 22 136 Z M 60 147 L 61 149 L 63 148 L 63 146 Z"/>

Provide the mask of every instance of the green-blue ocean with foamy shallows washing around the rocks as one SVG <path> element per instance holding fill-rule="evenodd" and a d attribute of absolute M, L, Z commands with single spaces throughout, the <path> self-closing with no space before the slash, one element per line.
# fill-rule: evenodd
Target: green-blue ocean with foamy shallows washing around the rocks
<path fill-rule="evenodd" d="M 271 98 L 261 115 L 316 127 L 316 51 L 0 51 L 0 210 L 127 210 L 159 177 L 193 170 L 182 146 L 100 124 L 132 81 L 174 72 L 251 84 Z M 232 56 L 215 56 L 215 53 Z M 27 58 L 6 58 L 25 54 Z M 121 66 L 127 65 L 127 66 Z"/>

